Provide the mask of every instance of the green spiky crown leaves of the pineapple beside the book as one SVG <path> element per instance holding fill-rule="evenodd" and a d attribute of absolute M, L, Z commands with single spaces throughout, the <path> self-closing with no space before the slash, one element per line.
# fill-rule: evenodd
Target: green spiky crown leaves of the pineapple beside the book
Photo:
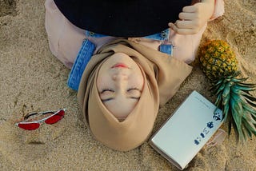
<path fill-rule="evenodd" d="M 245 141 L 247 136 L 256 136 L 256 98 L 250 94 L 256 85 L 245 83 L 248 78 L 237 78 L 239 74 L 212 83 L 210 91 L 217 96 L 215 104 L 223 111 L 229 134 L 233 127 L 237 140 Z"/>

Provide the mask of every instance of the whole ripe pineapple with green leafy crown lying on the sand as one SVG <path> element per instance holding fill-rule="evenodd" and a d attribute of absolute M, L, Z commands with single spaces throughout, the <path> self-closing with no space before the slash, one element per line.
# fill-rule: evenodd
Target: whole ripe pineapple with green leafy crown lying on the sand
<path fill-rule="evenodd" d="M 202 72 L 210 81 L 210 91 L 216 95 L 215 105 L 223 111 L 223 119 L 232 127 L 238 141 L 256 136 L 256 98 L 250 94 L 256 85 L 240 77 L 238 61 L 228 43 L 208 41 L 198 49 Z"/>

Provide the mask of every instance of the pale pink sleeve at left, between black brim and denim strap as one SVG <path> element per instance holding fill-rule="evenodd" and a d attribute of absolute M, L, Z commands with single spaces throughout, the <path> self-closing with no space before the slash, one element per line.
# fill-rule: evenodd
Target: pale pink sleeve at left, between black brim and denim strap
<path fill-rule="evenodd" d="M 73 66 L 74 60 L 82 45 L 85 31 L 69 22 L 58 10 L 53 0 L 46 0 L 46 33 L 50 51 L 68 68 Z"/>

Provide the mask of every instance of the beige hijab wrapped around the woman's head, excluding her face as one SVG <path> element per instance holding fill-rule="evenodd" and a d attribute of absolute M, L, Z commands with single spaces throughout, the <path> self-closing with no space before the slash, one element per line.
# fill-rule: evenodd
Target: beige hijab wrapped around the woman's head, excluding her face
<path fill-rule="evenodd" d="M 118 121 L 103 105 L 96 86 L 98 70 L 114 53 L 122 52 L 141 67 L 145 84 L 134 110 Z M 126 39 L 110 42 L 98 50 L 86 66 L 78 89 L 78 102 L 94 137 L 111 149 L 127 151 L 141 145 L 150 136 L 158 114 L 192 70 L 167 54 Z"/>

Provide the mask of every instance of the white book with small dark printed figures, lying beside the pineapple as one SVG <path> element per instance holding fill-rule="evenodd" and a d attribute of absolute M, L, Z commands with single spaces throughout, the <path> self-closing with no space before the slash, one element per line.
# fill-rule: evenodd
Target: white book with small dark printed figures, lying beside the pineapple
<path fill-rule="evenodd" d="M 193 91 L 149 143 L 178 169 L 184 169 L 220 125 L 222 110 Z"/>

